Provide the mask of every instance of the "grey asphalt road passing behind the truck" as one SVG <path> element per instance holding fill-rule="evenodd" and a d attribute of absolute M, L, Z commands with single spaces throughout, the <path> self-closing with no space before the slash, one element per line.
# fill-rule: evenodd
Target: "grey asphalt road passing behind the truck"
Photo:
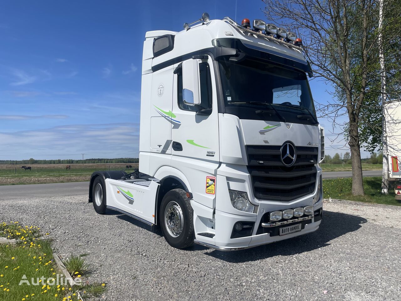
<path fill-rule="evenodd" d="M 381 170 L 363 171 L 364 177 L 381 176 Z M 350 171 L 326 171 L 323 179 L 351 177 Z M 29 184 L 0 186 L 0 200 L 18 197 L 51 197 L 63 195 L 87 194 L 89 182 L 52 183 L 52 184 Z"/>

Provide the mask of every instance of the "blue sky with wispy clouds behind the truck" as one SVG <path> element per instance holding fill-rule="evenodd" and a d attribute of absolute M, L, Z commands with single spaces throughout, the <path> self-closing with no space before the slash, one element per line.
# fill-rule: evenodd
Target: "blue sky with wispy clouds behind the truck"
<path fill-rule="evenodd" d="M 181 31 L 202 12 L 265 19 L 262 8 L 256 0 L 3 1 L 0 160 L 138 157 L 146 31 Z M 311 88 L 315 100 L 332 98 L 320 81 Z M 320 122 L 330 136 L 330 122 Z M 344 153 L 341 145 L 327 153 Z"/>

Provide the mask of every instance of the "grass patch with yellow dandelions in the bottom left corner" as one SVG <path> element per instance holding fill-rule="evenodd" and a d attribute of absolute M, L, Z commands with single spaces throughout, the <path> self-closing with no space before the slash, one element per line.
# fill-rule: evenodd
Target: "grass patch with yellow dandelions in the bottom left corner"
<path fill-rule="evenodd" d="M 105 283 L 86 281 L 85 285 L 69 287 L 54 261 L 51 240 L 43 238 L 40 228 L 0 222 L 0 237 L 17 240 L 15 245 L 0 244 L 0 300 L 78 301 L 79 293 L 87 299 L 105 293 Z M 73 277 L 80 278 L 87 264 L 80 256 L 70 258 L 75 258 L 71 263 Z"/>

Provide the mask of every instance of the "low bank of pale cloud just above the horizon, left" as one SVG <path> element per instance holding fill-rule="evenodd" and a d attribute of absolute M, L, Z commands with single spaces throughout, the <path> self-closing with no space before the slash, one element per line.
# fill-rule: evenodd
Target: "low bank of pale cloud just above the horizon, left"
<path fill-rule="evenodd" d="M 139 124 L 72 124 L 0 132 L 0 141 L 2 159 L 59 159 L 59 154 L 79 153 L 92 158 L 138 157 Z M 74 157 L 63 155 L 61 159 L 67 158 Z"/>

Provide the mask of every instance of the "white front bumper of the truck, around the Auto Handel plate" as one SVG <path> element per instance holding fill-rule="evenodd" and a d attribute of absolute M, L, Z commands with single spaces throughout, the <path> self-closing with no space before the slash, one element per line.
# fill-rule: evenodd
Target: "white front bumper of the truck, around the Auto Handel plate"
<path fill-rule="evenodd" d="M 268 206 L 268 204 L 267 204 Z M 263 203 L 261 203 L 261 207 L 263 207 Z M 314 212 L 320 211 L 323 207 L 323 202 L 322 200 L 318 201 L 314 205 Z M 259 207 L 259 210 L 261 208 Z M 202 246 L 208 247 L 208 248 L 213 248 L 215 250 L 220 250 L 220 251 L 237 251 L 237 250 L 244 250 L 247 248 L 253 248 L 256 246 L 261 246 L 263 244 L 270 244 L 272 242 L 277 242 L 280 240 L 285 240 L 288 238 L 293 238 L 296 236 L 300 236 L 303 234 L 308 234 L 311 232 L 314 232 L 318 230 L 321 220 L 322 220 L 322 211 L 320 211 L 320 216 L 314 216 L 311 219 L 300 221 L 303 223 L 302 225 L 302 230 L 300 232 L 295 232 L 291 234 L 286 234 L 283 236 L 279 236 L 274 233 L 262 233 L 262 234 L 257 234 L 259 225 L 262 224 L 261 220 L 262 214 L 258 214 L 257 217 L 248 217 L 248 216 L 239 216 L 235 214 L 229 214 L 226 212 L 220 212 L 216 210 L 216 227 L 223 227 L 219 229 L 222 231 L 219 231 L 216 233 L 215 237 L 215 244 L 209 244 L 207 242 L 201 242 L 199 240 L 194 240 L 196 244 L 200 244 Z M 316 219 L 316 221 L 315 221 Z M 232 232 L 232 225 L 235 224 L 236 222 L 255 222 L 255 226 L 252 230 L 252 236 L 246 236 L 246 237 L 241 237 L 241 238 L 229 238 L 231 236 Z M 297 224 L 297 223 L 294 223 Z M 224 227 L 224 225 L 230 225 Z M 277 232 L 279 228 L 281 227 L 286 227 L 288 225 L 282 225 L 282 226 L 276 226 L 276 227 L 271 227 L 268 229 L 275 229 L 274 232 Z"/>

